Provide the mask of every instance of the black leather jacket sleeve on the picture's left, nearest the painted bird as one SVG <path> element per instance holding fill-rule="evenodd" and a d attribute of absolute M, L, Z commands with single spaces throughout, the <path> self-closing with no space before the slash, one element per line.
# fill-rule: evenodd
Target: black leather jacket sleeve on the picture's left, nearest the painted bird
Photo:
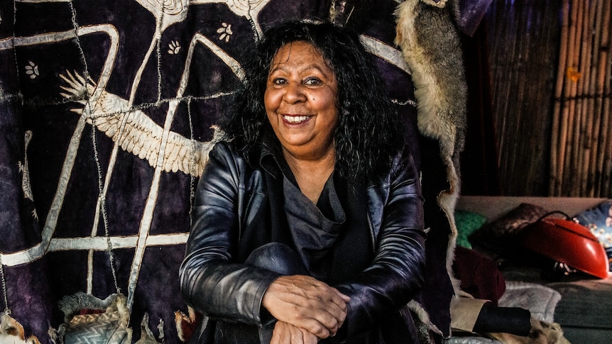
<path fill-rule="evenodd" d="M 232 262 L 245 168 L 225 143 L 211 150 L 197 186 L 180 285 L 187 304 L 210 318 L 261 323 L 263 293 L 278 274 Z"/>

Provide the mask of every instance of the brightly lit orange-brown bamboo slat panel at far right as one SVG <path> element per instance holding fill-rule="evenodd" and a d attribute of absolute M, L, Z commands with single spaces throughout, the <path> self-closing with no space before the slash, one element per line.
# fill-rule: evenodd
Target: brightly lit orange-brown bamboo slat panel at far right
<path fill-rule="evenodd" d="M 611 1 L 563 0 L 550 194 L 612 197 Z"/>

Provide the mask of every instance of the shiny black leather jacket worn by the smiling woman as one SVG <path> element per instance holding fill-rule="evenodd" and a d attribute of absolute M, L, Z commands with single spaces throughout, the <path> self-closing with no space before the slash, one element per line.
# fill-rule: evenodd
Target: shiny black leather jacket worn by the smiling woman
<path fill-rule="evenodd" d="M 251 161 L 252 162 L 252 161 Z M 270 192 L 261 165 L 253 167 L 231 143 L 217 143 L 200 178 L 192 229 L 180 267 L 182 296 L 218 321 L 260 325 L 261 300 L 278 274 L 236 261 L 241 233 L 256 226 Z M 373 262 L 354 280 L 335 285 L 350 296 L 344 334 L 368 331 L 419 292 L 425 264 L 420 179 L 408 150 L 390 173 L 366 188 Z M 195 335 L 197 335 L 195 333 Z"/>

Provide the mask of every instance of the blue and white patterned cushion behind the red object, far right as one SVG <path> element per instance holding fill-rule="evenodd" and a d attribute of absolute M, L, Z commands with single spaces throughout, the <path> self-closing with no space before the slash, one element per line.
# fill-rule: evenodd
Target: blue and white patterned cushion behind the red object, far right
<path fill-rule="evenodd" d="M 582 226 L 589 228 L 606 249 L 610 270 L 612 270 L 612 199 L 607 199 L 591 209 L 582 211 L 574 218 Z"/>

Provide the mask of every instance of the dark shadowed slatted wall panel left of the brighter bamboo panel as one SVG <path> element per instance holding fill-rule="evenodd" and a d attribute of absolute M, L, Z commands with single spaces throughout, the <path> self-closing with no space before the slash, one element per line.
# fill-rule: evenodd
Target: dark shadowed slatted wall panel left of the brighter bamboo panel
<path fill-rule="evenodd" d="M 561 1 L 493 1 L 486 16 L 498 167 L 505 195 L 548 192 Z"/>

